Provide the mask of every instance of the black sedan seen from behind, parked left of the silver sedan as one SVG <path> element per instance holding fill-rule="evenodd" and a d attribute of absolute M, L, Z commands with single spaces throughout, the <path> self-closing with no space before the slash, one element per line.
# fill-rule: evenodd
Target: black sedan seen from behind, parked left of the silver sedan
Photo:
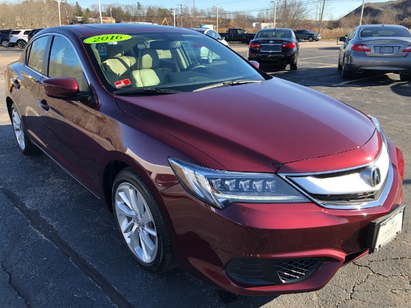
<path fill-rule="evenodd" d="M 299 44 L 292 29 L 262 29 L 250 42 L 248 60 L 269 62 L 290 70 L 297 70 Z"/>

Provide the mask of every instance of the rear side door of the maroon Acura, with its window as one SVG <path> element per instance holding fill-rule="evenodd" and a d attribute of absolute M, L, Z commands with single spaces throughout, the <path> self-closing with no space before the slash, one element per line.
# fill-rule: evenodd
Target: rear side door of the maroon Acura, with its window
<path fill-rule="evenodd" d="M 27 132 L 40 143 L 38 137 L 41 123 L 38 114 L 38 92 L 45 78 L 45 51 L 49 36 L 42 36 L 27 47 L 23 65 L 18 66 L 16 75 L 10 76 L 14 87 L 14 101 Z"/>

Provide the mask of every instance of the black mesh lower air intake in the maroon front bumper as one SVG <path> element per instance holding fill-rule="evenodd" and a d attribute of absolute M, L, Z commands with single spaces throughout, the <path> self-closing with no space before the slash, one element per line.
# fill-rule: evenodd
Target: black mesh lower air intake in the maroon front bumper
<path fill-rule="evenodd" d="M 320 259 L 237 258 L 229 261 L 225 272 L 242 285 L 279 285 L 306 280 L 320 265 Z"/>

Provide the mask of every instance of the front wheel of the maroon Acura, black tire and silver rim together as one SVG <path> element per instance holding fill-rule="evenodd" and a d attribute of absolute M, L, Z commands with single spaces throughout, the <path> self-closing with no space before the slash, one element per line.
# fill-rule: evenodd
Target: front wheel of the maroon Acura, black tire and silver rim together
<path fill-rule="evenodd" d="M 166 224 L 153 196 L 132 168 L 114 179 L 112 189 L 117 226 L 138 264 L 150 272 L 174 267 L 174 254 Z"/>

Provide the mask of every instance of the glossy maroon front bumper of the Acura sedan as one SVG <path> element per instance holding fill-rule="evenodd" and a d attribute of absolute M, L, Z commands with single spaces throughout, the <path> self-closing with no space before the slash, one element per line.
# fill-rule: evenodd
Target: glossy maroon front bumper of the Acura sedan
<path fill-rule="evenodd" d="M 314 203 L 234 203 L 218 210 L 177 184 L 160 192 L 180 268 L 236 294 L 319 290 L 337 270 L 369 253 L 371 222 L 402 203 L 403 158 L 391 151 L 392 188 L 369 209 Z M 368 240 L 369 241 L 369 240 Z"/>

